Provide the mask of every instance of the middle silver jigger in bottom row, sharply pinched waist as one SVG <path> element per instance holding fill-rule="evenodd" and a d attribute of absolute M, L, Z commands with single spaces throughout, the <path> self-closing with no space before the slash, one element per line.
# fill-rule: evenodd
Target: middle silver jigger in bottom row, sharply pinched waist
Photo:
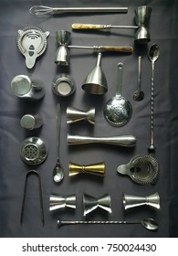
<path fill-rule="evenodd" d="M 95 197 L 91 197 L 88 194 L 83 195 L 83 208 L 84 208 L 84 216 L 89 214 L 89 212 L 95 210 L 96 208 L 102 208 L 108 212 L 111 211 L 111 203 L 110 203 L 110 195 L 106 194 L 98 199 Z"/>

